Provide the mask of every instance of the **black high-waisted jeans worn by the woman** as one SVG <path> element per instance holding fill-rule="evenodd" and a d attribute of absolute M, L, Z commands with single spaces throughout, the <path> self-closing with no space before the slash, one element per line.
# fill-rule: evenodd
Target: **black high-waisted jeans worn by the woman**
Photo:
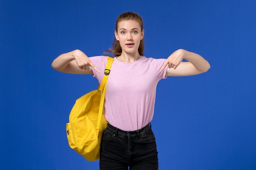
<path fill-rule="evenodd" d="M 130 132 L 108 124 L 101 140 L 99 164 L 100 170 L 158 170 L 151 125 Z"/>

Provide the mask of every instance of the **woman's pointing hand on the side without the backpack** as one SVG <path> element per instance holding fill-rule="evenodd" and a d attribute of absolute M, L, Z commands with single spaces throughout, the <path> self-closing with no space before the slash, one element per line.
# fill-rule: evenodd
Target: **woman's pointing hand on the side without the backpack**
<path fill-rule="evenodd" d="M 176 69 L 177 66 L 179 66 L 180 63 L 182 62 L 183 58 L 184 58 L 184 50 L 183 49 L 176 50 L 164 62 L 164 65 L 160 69 L 160 72 L 162 72 L 167 65 L 169 68 Z"/>

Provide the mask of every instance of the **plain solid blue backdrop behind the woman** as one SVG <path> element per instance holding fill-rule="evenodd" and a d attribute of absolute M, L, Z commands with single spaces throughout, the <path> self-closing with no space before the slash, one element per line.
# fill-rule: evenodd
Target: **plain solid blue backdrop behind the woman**
<path fill-rule="evenodd" d="M 157 86 L 159 170 L 255 170 L 254 0 L 0 0 L 1 169 L 99 169 L 69 148 L 65 132 L 75 99 L 97 79 L 51 63 L 74 49 L 101 55 L 125 11 L 144 19 L 145 56 L 182 48 L 211 64 Z"/>

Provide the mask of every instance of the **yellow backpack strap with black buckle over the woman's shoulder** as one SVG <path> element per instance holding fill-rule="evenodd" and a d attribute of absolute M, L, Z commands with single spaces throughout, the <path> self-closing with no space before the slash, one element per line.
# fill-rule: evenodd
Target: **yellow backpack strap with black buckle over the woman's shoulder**
<path fill-rule="evenodd" d="M 105 99 L 105 94 L 106 94 L 108 75 L 110 73 L 110 68 L 111 68 L 113 61 L 114 61 L 114 58 L 107 56 L 106 69 L 104 71 L 104 76 L 101 81 L 101 86 L 99 87 L 99 90 L 101 91 L 101 102 L 99 104 L 99 115 L 98 115 L 98 121 L 97 121 L 97 126 L 96 126 L 96 130 L 98 130 L 98 134 L 99 134 L 99 126 L 101 123 L 101 116 L 103 113 L 103 104 L 104 104 L 104 99 Z"/>

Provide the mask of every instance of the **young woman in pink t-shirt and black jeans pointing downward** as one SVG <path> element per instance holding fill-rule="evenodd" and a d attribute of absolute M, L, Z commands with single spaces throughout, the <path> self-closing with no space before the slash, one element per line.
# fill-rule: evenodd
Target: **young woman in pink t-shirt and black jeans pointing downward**
<path fill-rule="evenodd" d="M 153 59 L 144 53 L 143 21 L 137 13 L 119 15 L 114 55 L 108 77 L 104 115 L 108 120 L 100 151 L 101 170 L 158 170 L 153 118 L 156 86 L 167 76 L 188 76 L 206 72 L 210 65 L 200 55 L 179 49 L 167 59 Z M 185 59 L 188 62 L 182 62 Z M 61 72 L 92 74 L 103 78 L 106 56 L 88 57 L 80 50 L 58 56 L 52 67 Z"/>

